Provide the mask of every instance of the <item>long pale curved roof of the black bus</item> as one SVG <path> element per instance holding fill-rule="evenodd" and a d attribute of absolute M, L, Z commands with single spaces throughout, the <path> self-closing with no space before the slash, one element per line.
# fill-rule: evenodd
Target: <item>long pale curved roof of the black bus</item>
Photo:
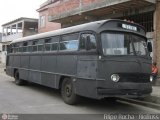
<path fill-rule="evenodd" d="M 89 23 L 76 25 L 76 26 L 72 26 L 72 27 L 68 27 L 68 28 L 62 28 L 62 29 L 58 29 L 58 30 L 54 30 L 54 31 L 50 31 L 50 32 L 45 32 L 45 33 L 40 33 L 40 34 L 31 35 L 31 36 L 27 36 L 27 37 L 18 38 L 18 39 L 13 40 L 11 42 L 11 44 L 12 43 L 17 43 L 17 42 L 28 41 L 28 40 L 36 40 L 36 39 L 41 39 L 41 38 L 47 38 L 47 37 L 51 37 L 51 36 L 58 36 L 58 35 L 62 35 L 62 34 L 80 32 L 80 31 L 85 31 L 85 30 L 98 31 L 98 29 L 103 24 L 105 24 L 107 22 L 111 22 L 111 21 L 123 22 L 123 23 L 127 23 L 127 24 L 136 25 L 136 26 L 139 26 L 141 29 L 144 30 L 143 26 L 141 26 L 139 24 L 136 24 L 136 23 L 130 23 L 130 22 L 123 21 L 123 20 L 118 20 L 118 19 L 108 19 L 108 20 L 89 22 Z"/>

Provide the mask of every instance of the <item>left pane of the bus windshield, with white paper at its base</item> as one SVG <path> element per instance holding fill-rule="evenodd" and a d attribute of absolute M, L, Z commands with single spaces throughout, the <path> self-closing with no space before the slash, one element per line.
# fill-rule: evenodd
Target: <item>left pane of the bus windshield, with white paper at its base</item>
<path fill-rule="evenodd" d="M 133 45 L 127 34 L 102 33 L 101 39 L 104 55 L 134 55 Z"/>

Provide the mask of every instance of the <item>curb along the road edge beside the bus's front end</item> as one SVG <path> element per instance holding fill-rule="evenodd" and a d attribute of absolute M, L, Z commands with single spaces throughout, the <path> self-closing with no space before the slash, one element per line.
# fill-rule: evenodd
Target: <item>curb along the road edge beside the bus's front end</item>
<path fill-rule="evenodd" d="M 145 99 L 118 98 L 118 100 L 160 110 L 160 98 L 153 97 L 153 96 L 151 96 L 150 99 L 148 99 L 148 98 L 145 98 Z M 156 103 L 155 103 L 155 101 L 156 101 Z"/>

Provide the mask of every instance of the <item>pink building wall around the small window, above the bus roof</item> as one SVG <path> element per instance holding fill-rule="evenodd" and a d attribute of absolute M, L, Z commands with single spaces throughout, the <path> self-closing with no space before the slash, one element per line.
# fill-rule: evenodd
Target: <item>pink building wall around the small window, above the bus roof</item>
<path fill-rule="evenodd" d="M 45 26 L 40 27 L 40 19 L 39 19 L 39 25 L 38 25 L 38 33 L 43 33 L 43 32 L 48 32 L 56 29 L 61 28 L 60 23 L 53 23 L 53 22 L 48 22 L 48 9 L 45 9 L 43 11 L 39 11 L 39 18 L 40 16 L 45 16 Z"/>

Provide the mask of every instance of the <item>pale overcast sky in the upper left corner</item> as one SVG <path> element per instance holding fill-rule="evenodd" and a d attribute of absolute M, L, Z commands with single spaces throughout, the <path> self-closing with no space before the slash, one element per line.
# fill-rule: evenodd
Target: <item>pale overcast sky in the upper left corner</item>
<path fill-rule="evenodd" d="M 47 0 L 0 0 L 0 32 L 2 24 L 20 17 L 38 18 L 36 11 Z"/>

